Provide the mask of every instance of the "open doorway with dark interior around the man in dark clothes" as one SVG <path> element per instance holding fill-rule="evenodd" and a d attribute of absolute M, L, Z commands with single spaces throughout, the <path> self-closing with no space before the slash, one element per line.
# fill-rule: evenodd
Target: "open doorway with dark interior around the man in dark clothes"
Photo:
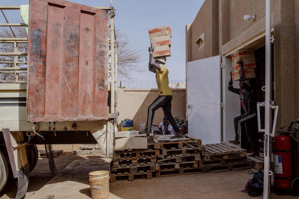
<path fill-rule="evenodd" d="M 265 37 L 262 37 L 256 41 L 253 41 L 247 46 L 244 46 L 242 49 L 253 49 L 256 61 L 255 74 L 256 78 L 250 79 L 250 85 L 252 85 L 254 89 L 254 99 L 256 102 L 263 102 L 265 100 L 265 93 L 262 90 L 262 87 L 265 85 Z M 273 71 L 274 71 L 274 49 L 272 44 L 272 62 L 271 62 L 271 72 L 272 72 L 272 82 L 273 79 Z M 223 80 L 223 141 L 228 142 L 228 140 L 234 140 L 235 138 L 235 128 L 234 128 L 234 118 L 241 114 L 241 106 L 240 99 L 237 94 L 232 93 L 228 90 L 228 83 L 230 80 L 230 72 L 232 71 L 232 61 L 231 56 L 228 55 L 225 57 L 225 69 L 222 71 L 224 74 L 222 77 Z M 239 81 L 234 81 L 233 86 L 235 88 L 239 88 Z M 272 83 L 272 100 L 274 97 L 273 83 Z M 264 107 L 260 110 L 260 119 L 261 119 L 261 129 L 264 129 L 264 117 L 265 110 Z M 274 115 L 274 114 L 273 114 Z M 247 149 L 248 152 L 251 151 L 250 143 L 247 139 L 244 125 L 241 130 L 241 148 Z M 263 140 L 264 132 L 259 132 L 259 139 Z M 260 144 L 260 148 L 263 148 L 263 145 Z"/>

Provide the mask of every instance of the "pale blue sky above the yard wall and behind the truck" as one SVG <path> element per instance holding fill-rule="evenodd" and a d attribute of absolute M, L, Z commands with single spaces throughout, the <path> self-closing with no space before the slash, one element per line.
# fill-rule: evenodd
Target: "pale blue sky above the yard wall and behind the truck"
<path fill-rule="evenodd" d="M 110 6 L 109 0 L 70 0 L 88 6 Z M 27 0 L 0 0 L 1 5 L 28 4 Z M 167 59 L 169 80 L 185 79 L 185 26 L 192 23 L 204 0 L 113 0 L 116 9 L 115 26 L 131 39 L 131 44 L 144 49 L 145 61 L 140 66 L 148 68 L 148 29 L 169 26 L 172 29 L 171 57 Z M 8 20 L 19 19 L 19 10 L 4 10 Z M 1 13 L 0 13 L 1 14 Z M 4 18 L 1 14 L 0 22 Z M 132 72 L 137 80 L 154 80 L 151 72 Z"/>

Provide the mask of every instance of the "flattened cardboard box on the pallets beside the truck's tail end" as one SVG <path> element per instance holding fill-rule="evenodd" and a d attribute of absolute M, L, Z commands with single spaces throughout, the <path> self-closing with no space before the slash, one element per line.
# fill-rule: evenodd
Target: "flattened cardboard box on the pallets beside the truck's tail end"
<path fill-rule="evenodd" d="M 138 134 L 139 131 L 120 131 L 115 134 L 115 150 L 147 149 L 146 134 Z M 154 136 L 153 133 L 150 136 Z"/>

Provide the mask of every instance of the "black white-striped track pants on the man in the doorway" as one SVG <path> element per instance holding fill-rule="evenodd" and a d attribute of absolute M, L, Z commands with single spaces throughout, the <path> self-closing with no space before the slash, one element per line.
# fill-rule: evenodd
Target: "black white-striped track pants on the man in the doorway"
<path fill-rule="evenodd" d="M 239 140 L 241 134 L 241 125 L 245 124 L 247 139 L 249 140 L 252 149 L 254 151 L 258 151 L 259 149 L 259 133 L 256 128 L 257 117 L 256 114 L 243 114 L 235 117 L 234 125 L 235 125 L 235 134 L 236 140 Z"/>

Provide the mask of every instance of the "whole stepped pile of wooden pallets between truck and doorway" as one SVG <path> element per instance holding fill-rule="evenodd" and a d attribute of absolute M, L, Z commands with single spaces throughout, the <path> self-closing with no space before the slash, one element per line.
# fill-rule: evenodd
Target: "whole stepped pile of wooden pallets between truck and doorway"
<path fill-rule="evenodd" d="M 147 149 L 116 151 L 112 161 L 110 181 L 135 176 L 155 177 L 191 173 L 248 169 L 254 166 L 246 150 L 227 143 L 202 145 L 200 139 L 186 134 L 185 139 L 167 139 L 157 135 Z"/>

